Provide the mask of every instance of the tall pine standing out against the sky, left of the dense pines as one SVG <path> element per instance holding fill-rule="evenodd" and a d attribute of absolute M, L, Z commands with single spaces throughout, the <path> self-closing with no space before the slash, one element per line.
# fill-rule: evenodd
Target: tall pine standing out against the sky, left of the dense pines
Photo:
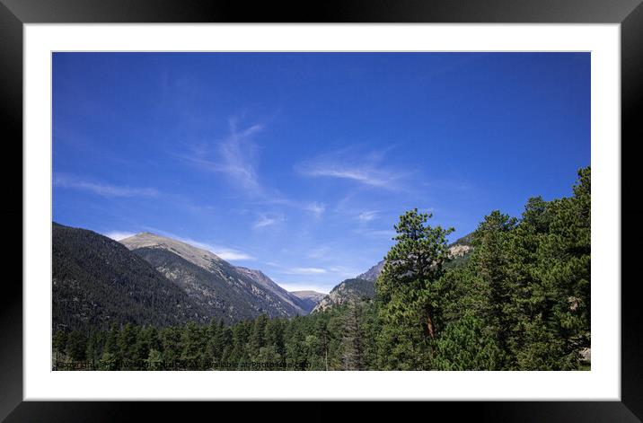
<path fill-rule="evenodd" d="M 446 236 L 453 228 L 427 225 L 432 215 L 417 209 L 400 216 L 397 241 L 376 281 L 383 331 L 379 336 L 385 369 L 430 368 L 430 343 L 440 330 L 440 278 L 448 259 Z"/>

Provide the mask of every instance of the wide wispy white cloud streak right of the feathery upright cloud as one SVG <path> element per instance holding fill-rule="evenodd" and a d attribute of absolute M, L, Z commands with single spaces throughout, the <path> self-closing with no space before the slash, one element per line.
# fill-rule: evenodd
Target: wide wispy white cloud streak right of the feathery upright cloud
<path fill-rule="evenodd" d="M 383 164 L 385 154 L 355 154 L 341 150 L 322 154 L 312 160 L 295 165 L 295 171 L 308 177 L 325 177 L 355 181 L 368 187 L 399 189 L 400 180 L 408 172 L 401 172 Z"/>

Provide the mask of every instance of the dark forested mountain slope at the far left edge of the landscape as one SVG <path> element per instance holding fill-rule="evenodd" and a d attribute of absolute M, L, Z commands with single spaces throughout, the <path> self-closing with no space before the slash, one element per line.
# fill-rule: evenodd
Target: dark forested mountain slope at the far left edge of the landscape
<path fill-rule="evenodd" d="M 166 326 L 207 322 L 207 311 L 119 242 L 53 223 L 54 329 L 107 329 L 112 322 Z"/>

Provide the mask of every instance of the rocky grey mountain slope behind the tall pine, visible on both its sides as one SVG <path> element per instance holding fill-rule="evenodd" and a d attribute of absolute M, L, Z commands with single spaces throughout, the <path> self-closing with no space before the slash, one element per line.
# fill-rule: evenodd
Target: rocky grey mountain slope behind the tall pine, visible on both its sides
<path fill-rule="evenodd" d="M 467 234 L 449 245 L 449 255 L 452 260 L 445 263 L 445 268 L 459 266 L 469 259 L 473 247 L 471 246 L 472 234 Z M 313 308 L 314 312 L 325 310 L 333 305 L 345 304 L 359 298 L 373 298 L 375 295 L 375 280 L 382 273 L 384 260 L 374 265 L 371 269 L 358 275 L 357 278 L 346 279 L 330 290 L 319 304 Z"/>

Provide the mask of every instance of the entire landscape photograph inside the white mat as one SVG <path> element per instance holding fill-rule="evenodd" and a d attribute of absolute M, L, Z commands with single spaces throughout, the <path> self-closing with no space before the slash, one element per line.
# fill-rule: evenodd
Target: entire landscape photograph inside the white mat
<path fill-rule="evenodd" d="M 590 58 L 53 53 L 52 369 L 590 370 Z"/>

